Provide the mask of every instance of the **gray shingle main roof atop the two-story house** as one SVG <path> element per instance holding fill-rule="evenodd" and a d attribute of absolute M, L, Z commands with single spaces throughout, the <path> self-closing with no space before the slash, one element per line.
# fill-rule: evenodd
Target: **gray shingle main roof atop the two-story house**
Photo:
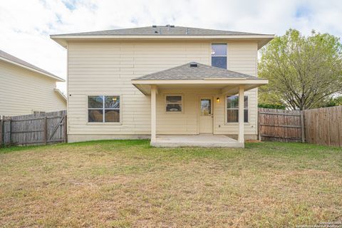
<path fill-rule="evenodd" d="M 140 28 L 122 28 L 105 31 L 90 31 L 83 33 L 66 33 L 61 36 L 250 36 L 269 35 L 261 33 L 245 33 L 239 31 L 224 31 L 206 28 L 189 28 L 182 26 L 147 26 Z M 56 35 L 58 36 L 58 35 Z"/>

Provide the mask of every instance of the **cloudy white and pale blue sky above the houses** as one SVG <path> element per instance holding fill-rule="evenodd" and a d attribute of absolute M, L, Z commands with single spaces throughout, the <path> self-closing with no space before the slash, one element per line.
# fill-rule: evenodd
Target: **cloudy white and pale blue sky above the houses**
<path fill-rule="evenodd" d="M 66 78 L 66 50 L 50 34 L 175 24 L 284 34 L 342 35 L 339 0 L 0 0 L 0 49 Z M 63 85 L 59 88 L 65 90 Z"/>

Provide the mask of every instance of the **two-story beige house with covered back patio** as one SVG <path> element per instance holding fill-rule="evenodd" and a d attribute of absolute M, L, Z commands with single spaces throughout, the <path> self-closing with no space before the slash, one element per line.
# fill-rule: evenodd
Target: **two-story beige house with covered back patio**
<path fill-rule="evenodd" d="M 68 50 L 70 142 L 257 139 L 257 87 L 268 83 L 257 78 L 257 51 L 274 35 L 167 25 L 51 38 Z M 222 139 L 232 143 L 214 143 Z"/>

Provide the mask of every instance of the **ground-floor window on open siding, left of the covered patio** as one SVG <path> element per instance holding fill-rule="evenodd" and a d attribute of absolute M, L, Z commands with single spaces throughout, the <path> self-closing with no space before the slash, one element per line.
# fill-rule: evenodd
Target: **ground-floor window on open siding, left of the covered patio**
<path fill-rule="evenodd" d="M 120 96 L 88 96 L 88 122 L 120 123 Z"/>

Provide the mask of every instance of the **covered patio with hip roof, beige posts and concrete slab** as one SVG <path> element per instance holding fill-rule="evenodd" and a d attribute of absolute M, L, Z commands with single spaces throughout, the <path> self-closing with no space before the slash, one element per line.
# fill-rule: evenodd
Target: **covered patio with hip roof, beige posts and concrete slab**
<path fill-rule="evenodd" d="M 198 94 L 201 94 L 201 91 L 212 89 L 217 91 L 215 94 L 238 94 L 239 98 L 244 98 L 245 91 L 265 85 L 268 81 L 244 73 L 192 62 L 135 78 L 132 80 L 132 83 L 142 93 L 150 95 L 152 146 L 244 147 L 244 99 L 239 99 L 238 101 L 238 139 L 234 140 L 222 133 L 201 134 L 198 130 L 193 135 L 183 135 L 182 133 L 157 134 L 157 95 L 160 93 L 160 90 L 186 90 L 191 88 L 197 91 Z M 216 115 L 212 112 L 209 112 L 209 114 L 211 118 L 214 118 Z"/>

